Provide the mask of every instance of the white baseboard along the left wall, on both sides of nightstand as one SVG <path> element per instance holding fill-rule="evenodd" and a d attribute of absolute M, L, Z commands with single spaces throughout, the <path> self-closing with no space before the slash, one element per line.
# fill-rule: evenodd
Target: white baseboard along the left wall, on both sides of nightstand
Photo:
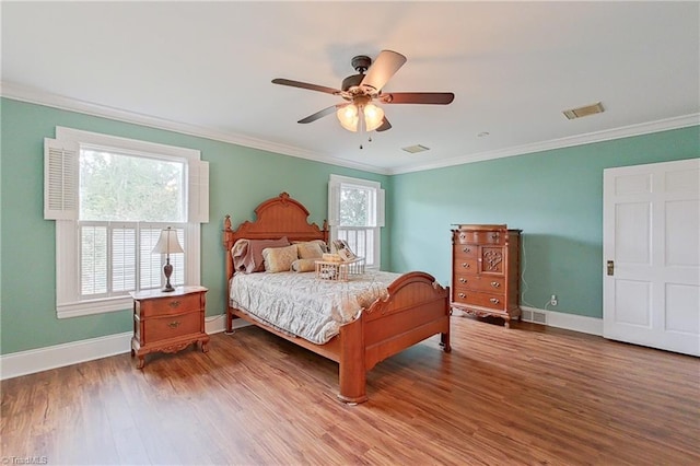
<path fill-rule="evenodd" d="M 225 329 L 225 315 L 207 317 L 205 328 L 207 334 L 218 334 Z M 234 323 L 234 328 L 248 324 L 242 319 Z M 107 335 L 105 337 L 71 341 L 52 347 L 19 351 L 0 356 L 0 380 L 19 377 L 21 375 L 48 371 L 79 362 L 92 361 L 131 351 L 131 331 Z"/>

